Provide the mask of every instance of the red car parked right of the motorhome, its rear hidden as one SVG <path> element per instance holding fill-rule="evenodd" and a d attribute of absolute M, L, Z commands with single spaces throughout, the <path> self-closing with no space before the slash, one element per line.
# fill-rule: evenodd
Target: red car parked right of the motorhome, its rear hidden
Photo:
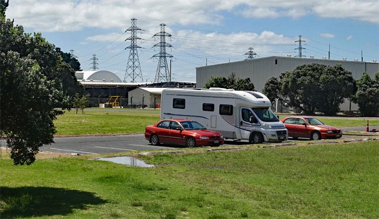
<path fill-rule="evenodd" d="M 309 138 L 311 140 L 339 139 L 342 137 L 341 129 L 325 125 L 312 116 L 290 116 L 281 119 L 288 129 L 289 137 Z"/>

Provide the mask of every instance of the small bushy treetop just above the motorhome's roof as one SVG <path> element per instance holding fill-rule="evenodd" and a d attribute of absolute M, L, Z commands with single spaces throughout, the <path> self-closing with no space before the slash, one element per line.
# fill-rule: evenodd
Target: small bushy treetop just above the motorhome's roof
<path fill-rule="evenodd" d="M 231 73 L 229 77 L 211 77 L 204 85 L 204 88 L 220 87 L 225 89 L 234 89 L 236 91 L 255 91 L 254 84 L 250 78 L 235 78 L 235 74 Z"/>

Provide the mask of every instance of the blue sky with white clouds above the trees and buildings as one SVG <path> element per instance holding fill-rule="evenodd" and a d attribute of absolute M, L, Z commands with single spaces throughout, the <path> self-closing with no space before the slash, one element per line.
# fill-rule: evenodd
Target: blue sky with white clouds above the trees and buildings
<path fill-rule="evenodd" d="M 172 37 L 172 80 L 196 81 L 196 67 L 256 58 L 303 55 L 321 59 L 379 60 L 377 0 L 10 0 L 7 18 L 64 52 L 74 50 L 83 70 L 96 54 L 100 70 L 124 79 L 131 18 L 137 19 L 138 57 L 144 81 L 154 81 L 160 24 Z M 170 61 L 168 65 L 170 65 Z M 126 78 L 130 81 L 131 78 Z M 139 81 L 138 81 L 139 82 Z"/>

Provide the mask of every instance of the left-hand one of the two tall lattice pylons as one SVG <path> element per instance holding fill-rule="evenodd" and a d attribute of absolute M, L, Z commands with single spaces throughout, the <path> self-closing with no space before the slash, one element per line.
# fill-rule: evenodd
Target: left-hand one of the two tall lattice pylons
<path fill-rule="evenodd" d="M 130 46 L 125 48 L 125 50 L 130 49 L 130 52 L 129 52 L 128 64 L 125 70 L 124 80 L 130 77 L 131 82 L 135 82 L 136 79 L 138 78 L 141 80 L 141 82 L 144 82 L 144 78 L 142 77 L 142 72 L 141 72 L 141 66 L 139 65 L 139 58 L 138 58 L 138 51 L 137 51 L 137 48 L 141 48 L 137 46 L 137 39 L 141 39 L 137 36 L 137 30 L 142 30 L 142 29 L 136 26 L 137 24 L 136 20 L 137 19 L 132 18 L 131 27 L 125 30 L 125 32 L 130 31 L 130 36 L 127 39 L 125 39 L 125 41 L 130 40 Z"/>

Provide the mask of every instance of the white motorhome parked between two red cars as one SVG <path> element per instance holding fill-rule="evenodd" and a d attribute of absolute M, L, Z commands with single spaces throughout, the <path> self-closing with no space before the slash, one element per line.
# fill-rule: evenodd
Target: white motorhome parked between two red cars
<path fill-rule="evenodd" d="M 259 92 L 232 89 L 166 89 L 161 97 L 161 119 L 195 120 L 225 139 L 251 143 L 288 139 L 285 125 Z"/>

